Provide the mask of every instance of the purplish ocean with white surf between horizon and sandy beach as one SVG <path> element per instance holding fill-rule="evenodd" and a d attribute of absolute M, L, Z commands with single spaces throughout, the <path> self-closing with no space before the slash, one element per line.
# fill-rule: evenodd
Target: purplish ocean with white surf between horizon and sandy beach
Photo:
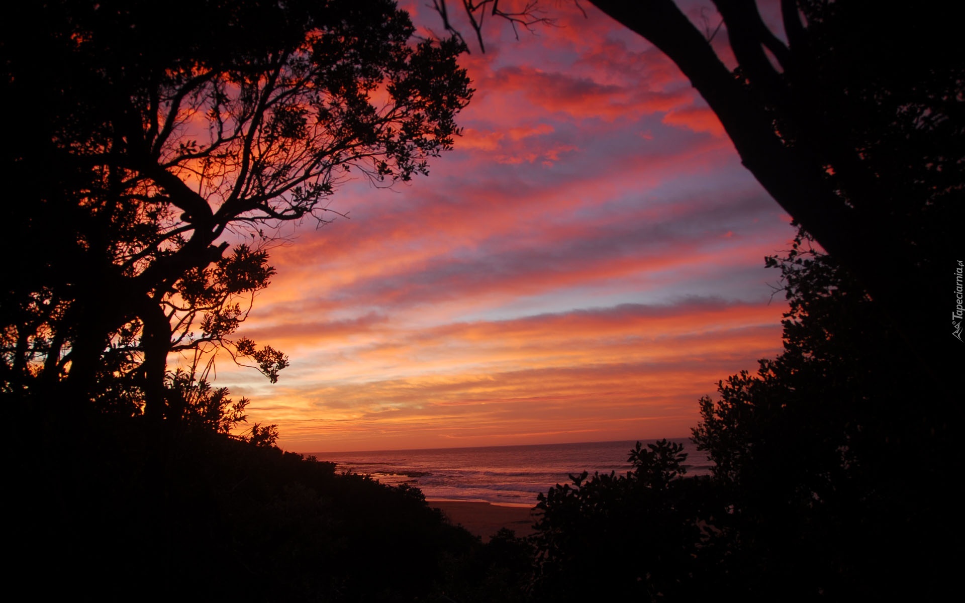
<path fill-rule="evenodd" d="M 645 440 L 644 444 L 655 440 Z M 710 473 L 712 461 L 686 438 L 671 439 L 688 453 L 688 476 Z M 429 500 L 479 501 L 507 507 L 533 507 L 537 495 L 568 474 L 589 471 L 618 475 L 632 467 L 627 462 L 635 440 L 492 446 L 409 451 L 317 452 L 318 460 L 334 461 L 336 471 L 372 476 L 390 485 L 409 483 Z"/>

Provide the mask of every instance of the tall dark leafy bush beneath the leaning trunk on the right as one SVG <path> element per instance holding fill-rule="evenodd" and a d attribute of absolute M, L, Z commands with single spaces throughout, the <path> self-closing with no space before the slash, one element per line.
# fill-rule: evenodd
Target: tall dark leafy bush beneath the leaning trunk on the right
<path fill-rule="evenodd" d="M 731 509 L 716 543 L 755 600 L 937 594 L 957 563 L 941 552 L 957 438 L 868 293 L 810 240 L 768 260 L 790 306 L 784 352 L 701 400 L 694 442 Z"/>

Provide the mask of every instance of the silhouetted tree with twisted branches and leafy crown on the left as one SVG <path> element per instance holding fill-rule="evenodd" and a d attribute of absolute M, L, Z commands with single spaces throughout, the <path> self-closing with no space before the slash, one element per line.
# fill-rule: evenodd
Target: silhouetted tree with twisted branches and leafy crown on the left
<path fill-rule="evenodd" d="M 122 407 L 140 390 L 146 414 L 174 419 L 167 355 L 208 343 L 274 380 L 283 354 L 228 339 L 273 270 L 228 248 L 324 222 L 349 173 L 389 185 L 452 145 L 472 92 L 462 47 L 412 34 L 390 0 L 12 9 L 0 164 L 32 242 L 4 249 L 3 389 L 66 380 L 67 401 L 122 379 Z"/>

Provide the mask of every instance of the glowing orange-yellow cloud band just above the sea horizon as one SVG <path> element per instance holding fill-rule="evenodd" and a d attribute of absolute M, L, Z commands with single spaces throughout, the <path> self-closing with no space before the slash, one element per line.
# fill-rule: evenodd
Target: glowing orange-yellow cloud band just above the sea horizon
<path fill-rule="evenodd" d="M 371 321 L 345 332 L 328 362 L 296 367 L 289 385 L 256 387 L 252 415 L 270 415 L 302 451 L 345 450 L 373 433 L 396 447 L 484 443 L 510 425 L 520 437 L 623 429 L 632 439 L 668 425 L 681 435 L 711 374 L 773 350 L 781 310 L 760 310 L 705 299 L 428 330 Z"/>

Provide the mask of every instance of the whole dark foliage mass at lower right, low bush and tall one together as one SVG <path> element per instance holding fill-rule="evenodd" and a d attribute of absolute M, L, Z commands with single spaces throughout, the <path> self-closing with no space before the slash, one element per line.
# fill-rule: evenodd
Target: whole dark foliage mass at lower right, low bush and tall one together
<path fill-rule="evenodd" d="M 784 351 L 700 400 L 692 441 L 640 444 L 625 476 L 540 495 L 537 600 L 855 600 L 939 595 L 962 460 L 922 373 L 867 291 L 798 234 L 781 270 Z M 574 581 L 572 576 L 605 576 Z M 541 598 L 540 598 L 541 597 Z"/>

